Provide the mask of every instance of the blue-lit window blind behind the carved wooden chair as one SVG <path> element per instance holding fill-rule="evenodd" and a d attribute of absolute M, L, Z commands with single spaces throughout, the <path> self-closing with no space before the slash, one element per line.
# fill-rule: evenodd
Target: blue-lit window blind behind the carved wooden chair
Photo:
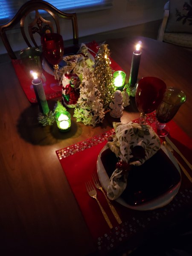
<path fill-rule="evenodd" d="M 12 19 L 20 6 L 25 2 L 27 0 L 0 0 L 0 23 L 3 23 L 3 20 Z M 47 0 L 47 2 L 57 9 L 76 12 L 76 10 L 85 10 L 93 7 L 102 9 L 105 6 L 110 6 L 112 0 Z"/>

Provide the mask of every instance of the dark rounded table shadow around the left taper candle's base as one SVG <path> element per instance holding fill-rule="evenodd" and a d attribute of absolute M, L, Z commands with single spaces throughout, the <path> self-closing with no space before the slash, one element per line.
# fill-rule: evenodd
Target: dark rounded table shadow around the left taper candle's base
<path fill-rule="evenodd" d="M 34 114 L 35 113 L 35 114 Z M 17 131 L 25 141 L 33 145 L 53 145 L 61 140 L 79 137 L 82 133 L 80 124 L 71 120 L 71 129 L 59 131 L 56 122 L 53 125 L 42 126 L 38 123 L 38 106 L 31 105 L 21 113 L 17 121 Z"/>

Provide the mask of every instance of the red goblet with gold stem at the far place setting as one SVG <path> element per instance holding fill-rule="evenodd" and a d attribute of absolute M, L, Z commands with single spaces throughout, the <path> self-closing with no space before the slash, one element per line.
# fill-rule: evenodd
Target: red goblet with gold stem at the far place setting
<path fill-rule="evenodd" d="M 51 84 L 51 88 L 56 91 L 61 91 L 58 64 L 64 54 L 63 38 L 57 33 L 47 33 L 41 37 L 41 45 L 44 57 L 48 63 L 52 64 L 54 67 L 54 75 L 57 83 Z"/>

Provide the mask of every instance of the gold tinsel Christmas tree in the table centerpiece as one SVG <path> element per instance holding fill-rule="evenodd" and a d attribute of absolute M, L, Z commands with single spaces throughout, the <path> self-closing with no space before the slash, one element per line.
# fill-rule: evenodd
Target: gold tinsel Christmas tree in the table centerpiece
<path fill-rule="evenodd" d="M 102 44 L 95 57 L 95 65 L 93 68 L 93 81 L 97 84 L 101 93 L 100 99 L 103 103 L 103 108 L 107 110 L 109 104 L 113 100 L 115 87 L 113 85 L 113 70 L 111 69 L 111 61 L 109 59 L 110 51 L 108 44 Z"/>

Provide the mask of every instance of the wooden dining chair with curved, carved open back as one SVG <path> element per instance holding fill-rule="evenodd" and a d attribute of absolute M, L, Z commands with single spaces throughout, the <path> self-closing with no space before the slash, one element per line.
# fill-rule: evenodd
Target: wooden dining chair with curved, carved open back
<path fill-rule="evenodd" d="M 41 12 L 40 10 L 43 10 L 43 12 Z M 32 15 L 33 12 L 35 12 L 35 15 Z M 45 12 L 46 12 L 46 15 L 45 15 Z M 30 19 L 32 19 L 30 20 L 30 22 L 29 21 L 27 22 L 27 18 L 26 18 L 27 15 L 30 15 Z M 52 32 L 52 33 L 55 32 L 60 34 L 61 33 L 61 26 L 59 23 L 60 18 L 72 21 L 72 28 L 73 28 L 73 46 L 72 47 L 77 49 L 78 42 L 79 42 L 79 35 L 78 35 L 78 24 L 77 24 L 76 13 L 62 12 L 44 0 L 30 0 L 24 3 L 23 6 L 20 7 L 20 9 L 15 14 L 15 16 L 9 22 L 3 25 L 0 25 L 0 36 L 2 38 L 3 44 L 6 47 L 6 50 L 9 56 L 12 59 L 17 59 L 15 52 L 13 51 L 6 34 L 8 30 L 15 28 L 15 26 L 17 26 L 17 24 L 20 23 L 20 31 L 27 46 L 32 47 L 32 44 L 34 44 L 35 47 L 39 48 L 37 44 L 37 36 L 34 37 L 35 33 L 39 34 L 40 37 L 44 33 L 49 33 L 49 32 Z M 28 33 L 26 33 L 27 25 L 28 25 Z"/>

